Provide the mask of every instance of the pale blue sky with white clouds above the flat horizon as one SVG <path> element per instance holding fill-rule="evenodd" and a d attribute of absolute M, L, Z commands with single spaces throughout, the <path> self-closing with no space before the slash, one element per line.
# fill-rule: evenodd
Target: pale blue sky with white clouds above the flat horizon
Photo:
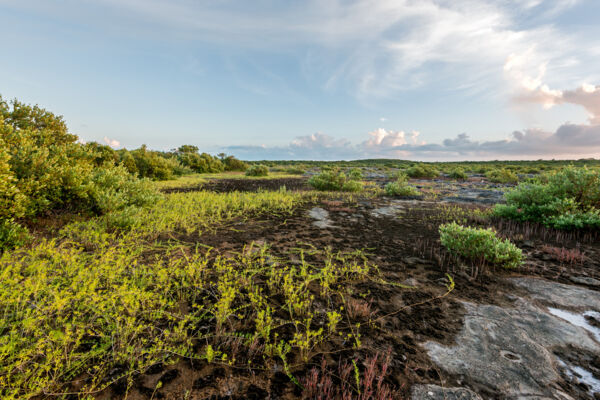
<path fill-rule="evenodd" d="M 600 158 L 598 0 L 0 0 L 0 95 L 238 158 Z"/>

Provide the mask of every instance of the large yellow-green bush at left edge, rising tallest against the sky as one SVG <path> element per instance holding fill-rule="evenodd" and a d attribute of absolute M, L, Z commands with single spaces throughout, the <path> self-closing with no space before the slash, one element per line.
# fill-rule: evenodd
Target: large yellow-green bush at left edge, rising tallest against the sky
<path fill-rule="evenodd" d="M 0 242 L 22 242 L 15 219 L 57 208 L 106 213 L 155 198 L 148 182 L 115 166 L 112 149 L 81 144 L 62 117 L 0 97 Z"/>

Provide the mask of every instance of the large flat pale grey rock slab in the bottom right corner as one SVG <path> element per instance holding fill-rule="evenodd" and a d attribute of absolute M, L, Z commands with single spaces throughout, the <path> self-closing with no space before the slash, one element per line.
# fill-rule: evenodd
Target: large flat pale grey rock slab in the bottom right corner
<path fill-rule="evenodd" d="M 597 315 L 600 294 L 541 279 L 511 281 L 539 303 L 586 311 L 580 316 L 547 309 L 526 298 L 516 298 L 512 308 L 464 303 L 464 327 L 456 344 L 425 343 L 431 359 L 450 375 L 465 377 L 474 389 L 483 387 L 503 398 L 572 398 L 557 385 L 561 372 L 567 378 L 575 377 L 584 394 L 593 398 L 596 378 L 580 366 L 562 362 L 555 351 L 600 355 L 594 330 L 582 322 L 584 317 Z M 586 382 L 582 374 L 577 377 L 570 372 L 577 369 L 591 378 Z M 417 398 L 427 397 L 413 395 Z"/>

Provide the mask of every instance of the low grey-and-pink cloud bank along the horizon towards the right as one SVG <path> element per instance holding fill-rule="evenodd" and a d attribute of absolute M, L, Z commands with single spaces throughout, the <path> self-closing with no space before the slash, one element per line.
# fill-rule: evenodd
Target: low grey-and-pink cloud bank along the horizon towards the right
<path fill-rule="evenodd" d="M 527 79 L 529 81 L 529 79 Z M 323 133 L 301 136 L 287 146 L 227 146 L 223 150 L 248 159 L 350 160 L 359 158 L 452 159 L 532 159 L 598 157 L 600 151 L 600 86 L 589 84 L 575 90 L 551 90 L 546 85 L 526 87 L 517 101 L 538 103 L 546 108 L 571 103 L 584 107 L 589 124 L 561 125 L 555 132 L 540 129 L 514 131 L 510 138 L 496 141 L 472 140 L 466 133 L 441 144 L 419 141 L 420 133 L 369 132 L 368 140 L 353 145 Z"/>

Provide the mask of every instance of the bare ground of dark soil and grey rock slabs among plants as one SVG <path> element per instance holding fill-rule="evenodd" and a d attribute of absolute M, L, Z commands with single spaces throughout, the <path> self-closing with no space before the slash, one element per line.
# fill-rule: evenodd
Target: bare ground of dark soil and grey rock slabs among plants
<path fill-rule="evenodd" d="M 257 190 L 276 185 L 256 182 L 210 187 L 249 185 L 244 187 Z M 364 288 L 382 322 L 379 333 L 364 337 L 363 343 L 366 349 L 391 352 L 390 380 L 406 398 L 600 398 L 597 236 L 484 221 L 480 212 L 499 201 L 506 187 L 480 177 L 411 183 L 437 195 L 350 203 L 323 200 L 292 217 L 240 222 L 203 237 L 202 244 L 222 254 L 250 243 L 268 244 L 276 255 L 289 254 L 300 243 L 341 251 L 364 249 L 387 280 L 404 285 Z M 303 188 L 305 181 L 278 184 Z M 440 223 L 453 219 L 494 226 L 523 249 L 526 264 L 506 271 L 456 262 L 437 234 Z M 443 296 L 446 273 L 456 286 Z M 178 398 L 188 384 L 195 385 L 191 398 L 198 399 L 299 396 L 280 373 L 240 377 L 226 368 L 197 371 L 184 362 L 169 371 L 159 369 L 144 378 L 151 386 L 162 375 L 173 375 L 159 397 Z M 295 373 L 302 376 L 306 371 Z"/>

